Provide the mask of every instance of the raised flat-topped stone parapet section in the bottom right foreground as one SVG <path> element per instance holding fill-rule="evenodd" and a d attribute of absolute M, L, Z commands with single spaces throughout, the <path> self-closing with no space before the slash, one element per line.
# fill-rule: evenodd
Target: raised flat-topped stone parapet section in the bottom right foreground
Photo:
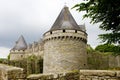
<path fill-rule="evenodd" d="M 80 70 L 79 80 L 120 80 L 120 71 Z"/>

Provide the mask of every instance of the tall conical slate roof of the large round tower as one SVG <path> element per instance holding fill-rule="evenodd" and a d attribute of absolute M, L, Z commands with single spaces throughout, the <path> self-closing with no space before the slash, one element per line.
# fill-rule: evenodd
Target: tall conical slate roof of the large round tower
<path fill-rule="evenodd" d="M 81 30 L 66 6 L 61 10 L 50 31 L 59 29 Z"/>

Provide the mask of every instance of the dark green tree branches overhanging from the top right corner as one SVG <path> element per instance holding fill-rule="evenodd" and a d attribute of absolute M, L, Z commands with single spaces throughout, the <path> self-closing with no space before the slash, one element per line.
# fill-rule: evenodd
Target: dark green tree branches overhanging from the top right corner
<path fill-rule="evenodd" d="M 102 42 L 120 44 L 120 0 L 84 0 L 73 8 L 86 11 L 83 18 L 91 18 L 91 23 L 101 23 L 99 28 L 109 31 L 100 34 Z"/>

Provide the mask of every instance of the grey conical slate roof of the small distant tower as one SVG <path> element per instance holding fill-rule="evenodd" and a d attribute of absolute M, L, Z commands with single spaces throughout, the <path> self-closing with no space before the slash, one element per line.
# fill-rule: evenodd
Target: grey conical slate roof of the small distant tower
<path fill-rule="evenodd" d="M 12 50 L 25 50 L 26 48 L 27 48 L 27 43 L 24 37 L 21 35 L 18 41 L 16 41 L 16 44 Z"/>

